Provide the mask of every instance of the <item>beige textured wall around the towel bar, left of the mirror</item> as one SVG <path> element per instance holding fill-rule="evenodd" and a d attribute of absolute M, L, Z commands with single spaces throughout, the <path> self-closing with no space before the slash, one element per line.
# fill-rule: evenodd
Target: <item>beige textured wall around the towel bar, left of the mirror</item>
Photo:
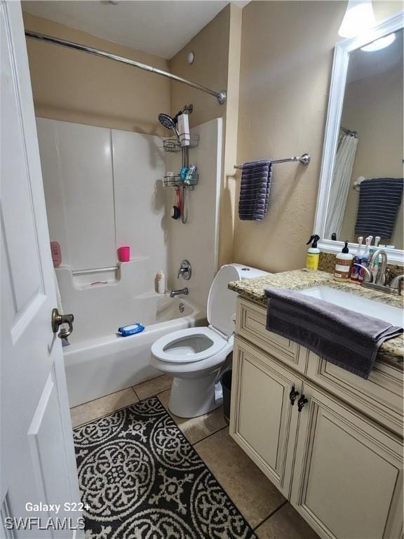
<path fill-rule="evenodd" d="M 332 51 L 346 2 L 253 1 L 243 10 L 238 162 L 309 152 L 274 165 L 263 222 L 236 216 L 236 262 L 279 272 L 303 267 L 313 232 Z"/>

